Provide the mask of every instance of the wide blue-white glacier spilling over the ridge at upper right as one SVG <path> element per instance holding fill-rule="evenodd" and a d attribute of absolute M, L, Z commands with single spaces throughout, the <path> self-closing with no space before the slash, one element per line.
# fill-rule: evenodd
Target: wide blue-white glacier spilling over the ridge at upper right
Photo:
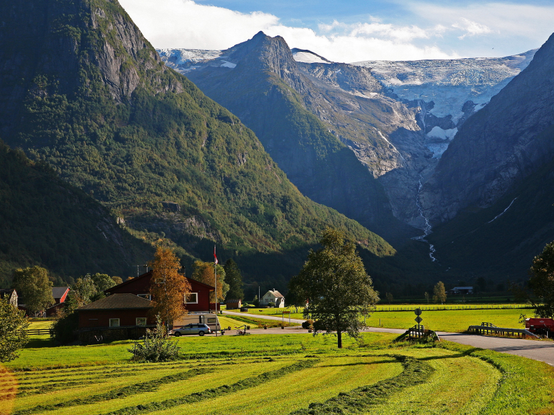
<path fill-rule="evenodd" d="M 463 120 L 464 104 L 483 108 L 529 64 L 537 49 L 507 57 L 477 57 L 420 61 L 363 61 L 352 65 L 371 68 L 373 75 L 402 100 L 434 102 L 432 115 Z"/>

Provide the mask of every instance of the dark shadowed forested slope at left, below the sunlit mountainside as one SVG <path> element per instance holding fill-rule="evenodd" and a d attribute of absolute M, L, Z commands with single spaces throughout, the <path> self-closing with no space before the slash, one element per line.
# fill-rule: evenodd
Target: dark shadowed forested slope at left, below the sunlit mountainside
<path fill-rule="evenodd" d="M 152 246 L 127 234 L 46 163 L 0 142 L 0 166 L 0 286 L 9 286 L 17 267 L 44 266 L 71 282 L 105 270 L 127 277 L 130 267 L 150 259 Z"/>

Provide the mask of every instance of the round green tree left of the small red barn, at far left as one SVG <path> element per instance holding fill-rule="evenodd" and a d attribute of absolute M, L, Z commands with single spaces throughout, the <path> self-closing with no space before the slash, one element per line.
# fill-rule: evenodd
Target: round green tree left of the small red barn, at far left
<path fill-rule="evenodd" d="M 12 288 L 23 297 L 29 313 L 38 313 L 54 304 L 52 282 L 48 270 L 39 266 L 17 269 L 13 272 Z"/>

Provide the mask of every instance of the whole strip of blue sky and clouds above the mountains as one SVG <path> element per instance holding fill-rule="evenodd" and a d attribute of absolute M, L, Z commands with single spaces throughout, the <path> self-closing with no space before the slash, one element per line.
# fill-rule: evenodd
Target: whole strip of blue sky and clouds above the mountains
<path fill-rule="evenodd" d="M 554 0 L 119 1 L 155 48 L 226 49 L 262 30 L 348 63 L 517 55 L 554 31 Z"/>

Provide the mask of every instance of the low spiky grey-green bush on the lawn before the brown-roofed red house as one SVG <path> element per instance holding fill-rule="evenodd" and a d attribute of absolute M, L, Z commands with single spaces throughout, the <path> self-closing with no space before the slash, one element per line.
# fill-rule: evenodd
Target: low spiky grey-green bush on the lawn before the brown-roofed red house
<path fill-rule="evenodd" d="M 177 342 L 169 340 L 166 327 L 159 317 L 156 329 L 147 330 L 143 342 L 136 342 L 127 351 L 133 354 L 132 360 L 137 362 L 167 362 L 179 357 L 179 346 Z"/>

